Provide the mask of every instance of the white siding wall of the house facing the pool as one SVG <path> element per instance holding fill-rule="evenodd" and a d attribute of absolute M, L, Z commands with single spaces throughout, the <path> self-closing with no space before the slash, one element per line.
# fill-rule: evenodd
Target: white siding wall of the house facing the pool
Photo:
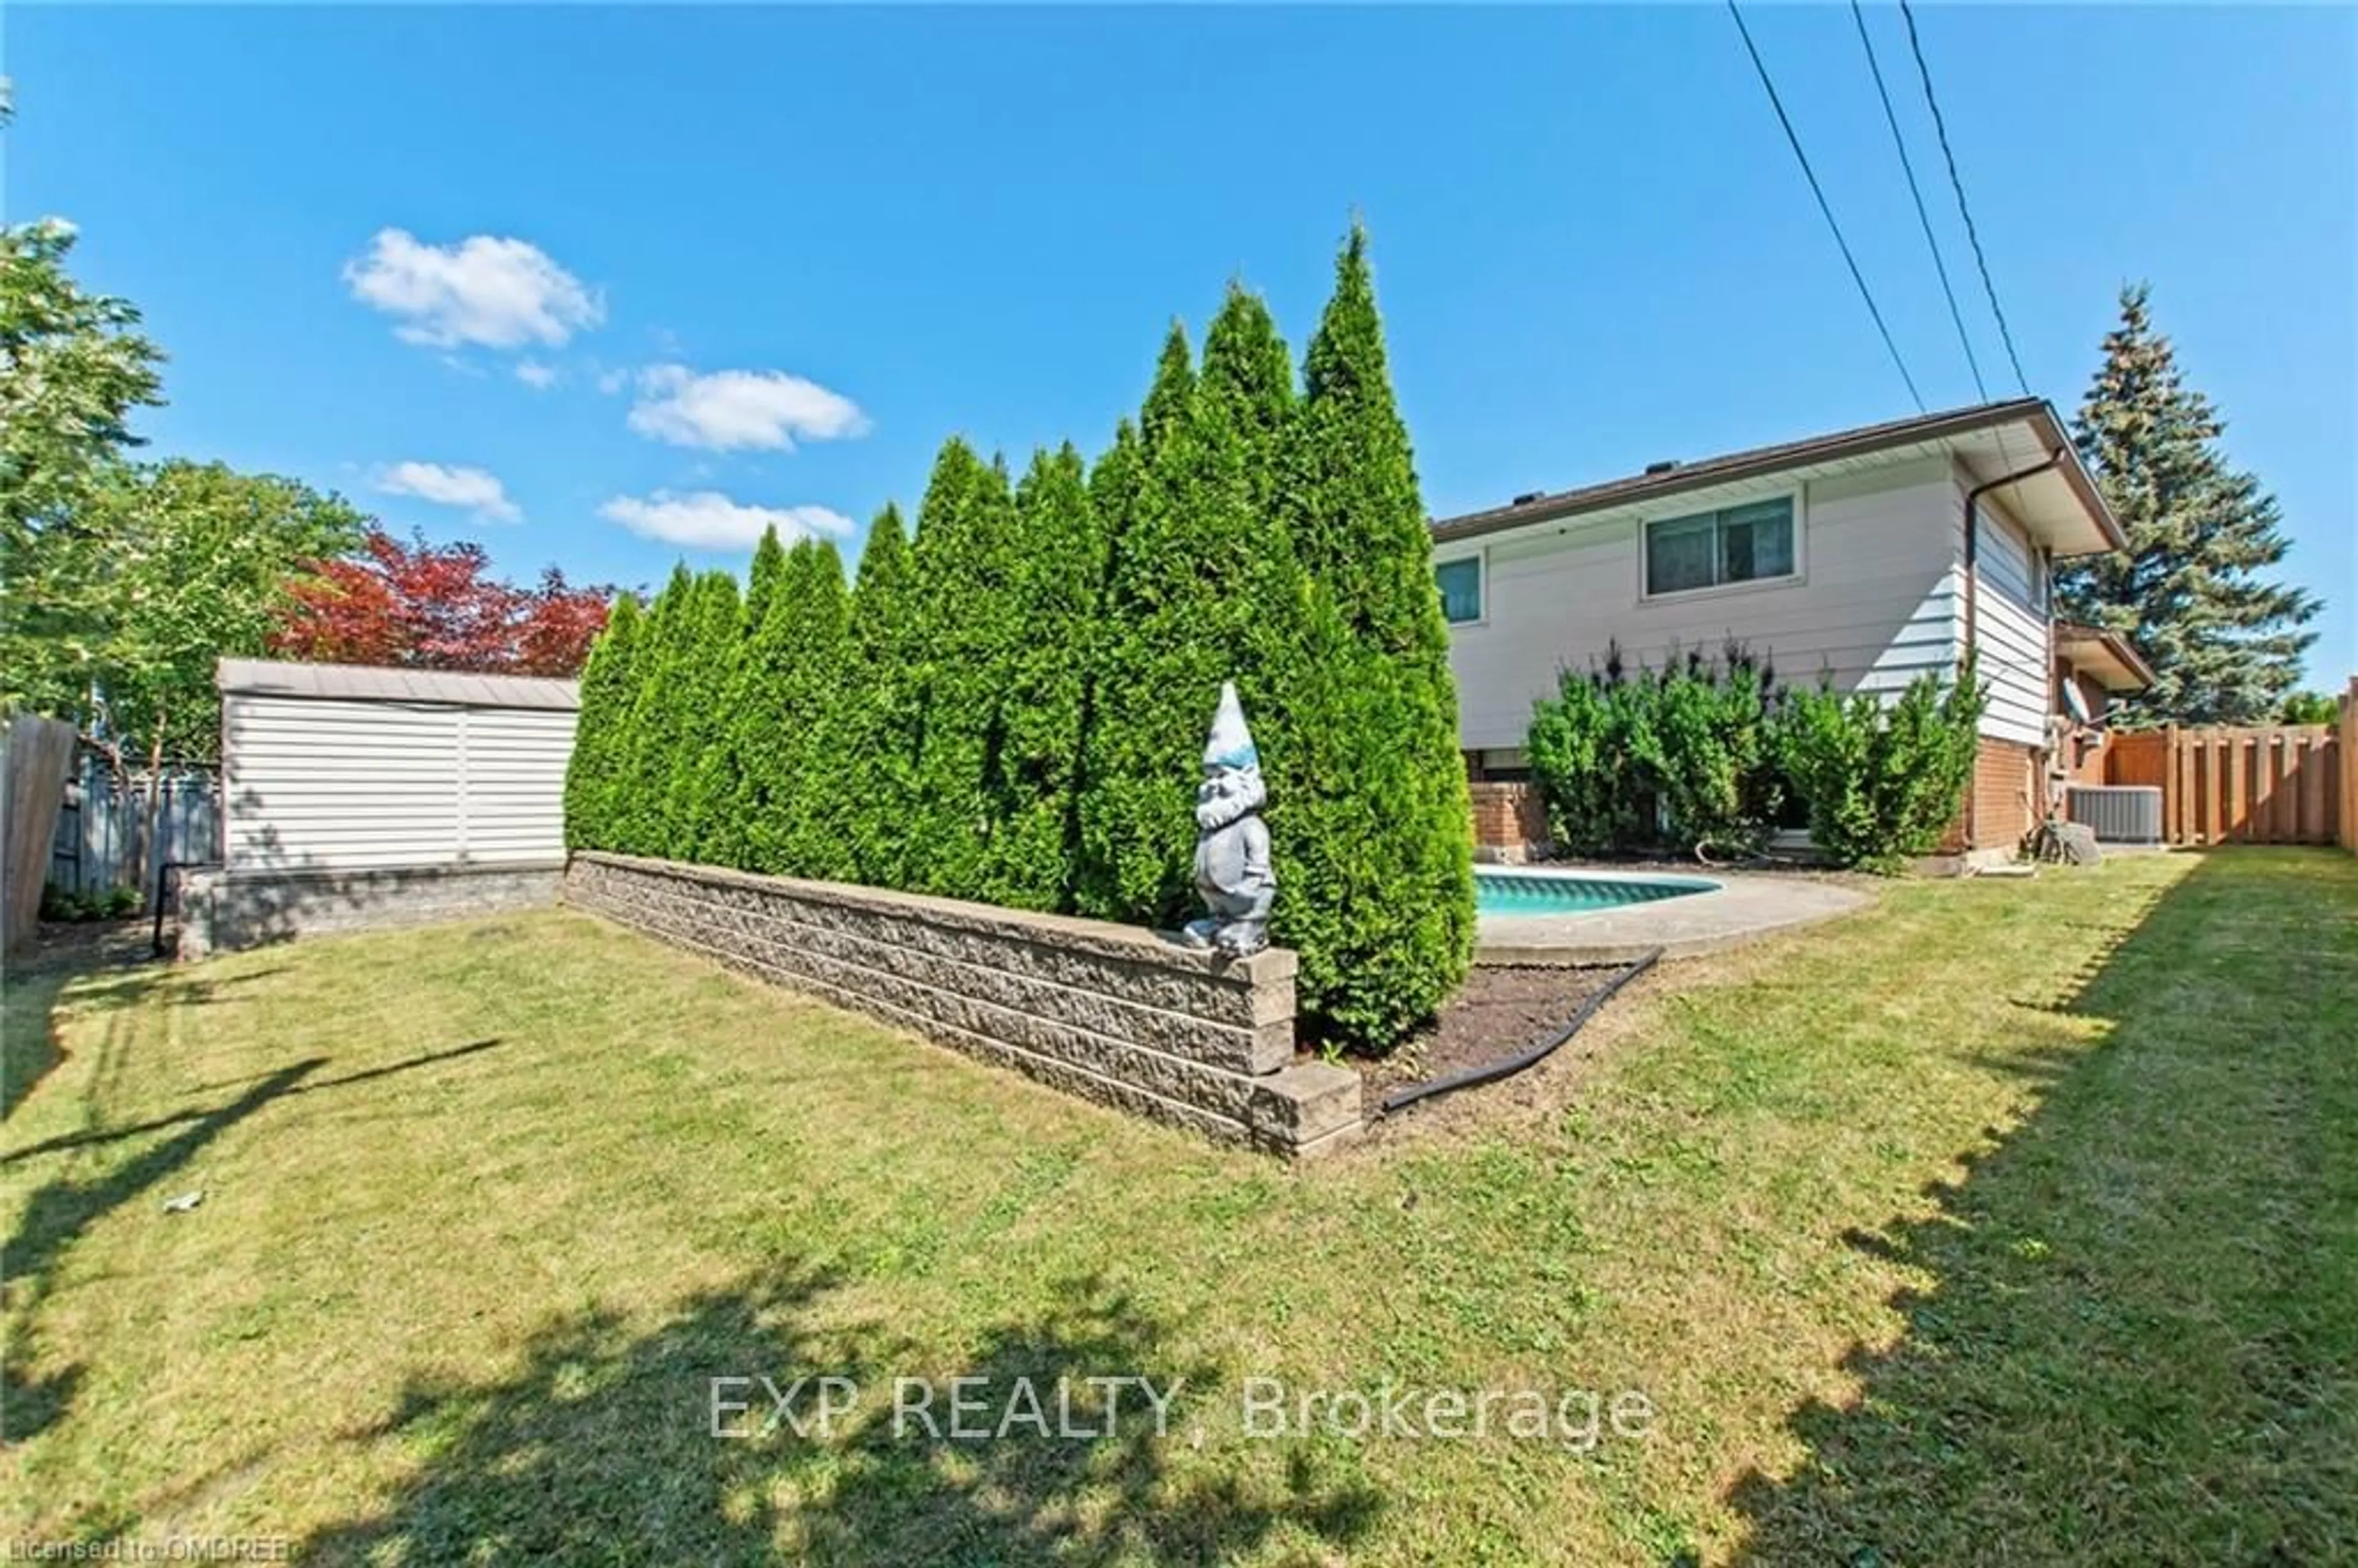
<path fill-rule="evenodd" d="M 1952 667 L 1964 500 L 1945 457 L 1802 486 L 1799 580 L 1644 599 L 1646 519 L 1790 493 L 1790 481 L 1764 483 L 1596 514 L 1537 538 L 1495 535 L 1486 549 L 1483 540 L 1438 547 L 1443 561 L 1486 556 L 1483 620 L 1450 627 L 1460 743 L 1521 745 L 1533 698 L 1613 641 L 1629 663 L 1660 663 L 1674 646 L 1717 653 L 1735 637 L 1768 653 L 1783 679 L 1825 672 L 1844 691 L 1898 691 L 1924 670 Z"/>

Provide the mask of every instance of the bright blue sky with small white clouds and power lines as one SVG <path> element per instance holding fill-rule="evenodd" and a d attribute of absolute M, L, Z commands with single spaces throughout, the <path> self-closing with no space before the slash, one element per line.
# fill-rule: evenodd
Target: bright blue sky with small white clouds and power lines
<path fill-rule="evenodd" d="M 1926 401 L 1974 401 L 1849 9 L 1750 19 Z M 1868 19 L 2011 391 L 1898 12 Z M 2339 686 L 2358 17 L 1919 26 L 2033 389 L 2068 413 L 2148 278 Z M 1094 453 L 1231 276 L 1299 347 L 1353 210 L 1436 514 L 1912 410 L 1717 7 L 9 5 L 0 50 L 0 205 L 71 217 L 85 281 L 144 307 L 156 448 L 519 575 L 656 582 L 679 547 L 632 523 L 740 507 L 856 549 L 950 431 Z"/>

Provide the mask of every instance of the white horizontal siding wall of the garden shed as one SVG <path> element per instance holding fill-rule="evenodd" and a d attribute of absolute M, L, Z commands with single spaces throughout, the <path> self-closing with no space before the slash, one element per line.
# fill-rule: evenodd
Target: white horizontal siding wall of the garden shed
<path fill-rule="evenodd" d="M 231 693 L 231 870 L 564 861 L 571 712 Z"/>

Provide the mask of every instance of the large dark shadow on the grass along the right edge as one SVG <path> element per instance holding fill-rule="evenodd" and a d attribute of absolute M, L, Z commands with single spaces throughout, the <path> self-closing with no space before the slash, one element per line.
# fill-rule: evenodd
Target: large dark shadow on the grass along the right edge
<path fill-rule="evenodd" d="M 2037 1108 L 1851 1238 L 1922 1283 L 1731 1490 L 1745 1561 L 2358 1561 L 2358 863 L 2212 854 L 2096 948 L 2023 1000 L 2094 1045 L 2009 1059 Z"/>

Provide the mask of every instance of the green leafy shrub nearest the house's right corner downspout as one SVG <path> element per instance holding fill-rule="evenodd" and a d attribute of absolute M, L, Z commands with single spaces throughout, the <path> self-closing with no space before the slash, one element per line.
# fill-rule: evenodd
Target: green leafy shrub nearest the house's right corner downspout
<path fill-rule="evenodd" d="M 1790 693 L 1776 755 L 1818 849 L 1868 870 L 1938 849 L 1974 780 L 1983 700 L 1971 655 L 1955 681 L 1919 674 L 1889 707 L 1865 691 Z"/>

